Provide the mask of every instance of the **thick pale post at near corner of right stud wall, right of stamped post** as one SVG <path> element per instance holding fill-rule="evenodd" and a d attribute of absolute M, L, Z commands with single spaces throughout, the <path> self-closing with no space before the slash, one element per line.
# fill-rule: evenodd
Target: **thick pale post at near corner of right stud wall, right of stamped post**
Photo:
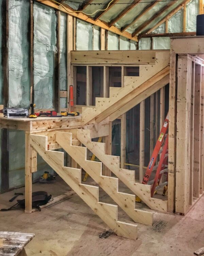
<path fill-rule="evenodd" d="M 182 215 L 189 209 L 191 68 L 187 56 L 178 58 L 175 208 Z"/>

